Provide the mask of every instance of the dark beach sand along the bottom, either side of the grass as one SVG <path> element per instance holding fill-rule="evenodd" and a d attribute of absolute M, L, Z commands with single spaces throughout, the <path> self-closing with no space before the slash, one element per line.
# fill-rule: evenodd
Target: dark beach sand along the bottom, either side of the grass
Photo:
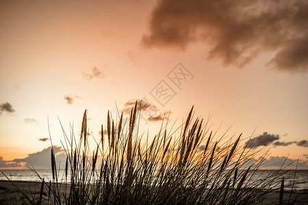
<path fill-rule="evenodd" d="M 34 195 L 36 202 L 39 200 L 40 195 L 40 185 L 39 182 L 18 182 L 14 181 L 14 184 L 18 186 L 25 193 Z M 68 187 L 68 185 L 66 186 Z M 62 184 L 62 191 L 65 189 L 65 184 Z M 287 202 L 290 193 L 284 194 L 284 200 Z M 23 195 L 21 195 L 17 189 L 14 187 L 12 182 L 0 180 L 0 204 L 25 204 L 23 202 Z M 295 200 L 294 204 L 308 204 L 308 191 L 302 191 L 302 193 L 292 193 L 291 203 Z M 279 204 L 279 192 L 273 192 L 267 195 L 264 200 L 264 204 Z M 48 201 L 48 190 L 44 189 L 42 195 L 42 204 L 49 204 Z M 285 203 L 287 204 L 287 203 Z"/>

